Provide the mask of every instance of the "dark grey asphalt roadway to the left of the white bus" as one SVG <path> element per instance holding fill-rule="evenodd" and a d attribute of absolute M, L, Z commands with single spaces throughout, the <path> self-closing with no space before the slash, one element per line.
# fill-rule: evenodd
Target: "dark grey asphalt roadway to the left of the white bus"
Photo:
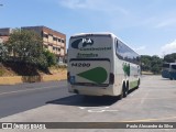
<path fill-rule="evenodd" d="M 66 81 L 0 86 L 0 118 L 46 105 L 48 100 L 70 96 Z"/>

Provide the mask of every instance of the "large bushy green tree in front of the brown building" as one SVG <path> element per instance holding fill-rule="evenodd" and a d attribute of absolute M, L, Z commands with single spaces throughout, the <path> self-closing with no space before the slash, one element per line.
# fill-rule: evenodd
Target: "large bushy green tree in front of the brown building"
<path fill-rule="evenodd" d="M 31 65 L 47 65 L 43 55 L 42 37 L 34 31 L 15 29 L 6 43 L 9 53 L 19 62 Z"/>

